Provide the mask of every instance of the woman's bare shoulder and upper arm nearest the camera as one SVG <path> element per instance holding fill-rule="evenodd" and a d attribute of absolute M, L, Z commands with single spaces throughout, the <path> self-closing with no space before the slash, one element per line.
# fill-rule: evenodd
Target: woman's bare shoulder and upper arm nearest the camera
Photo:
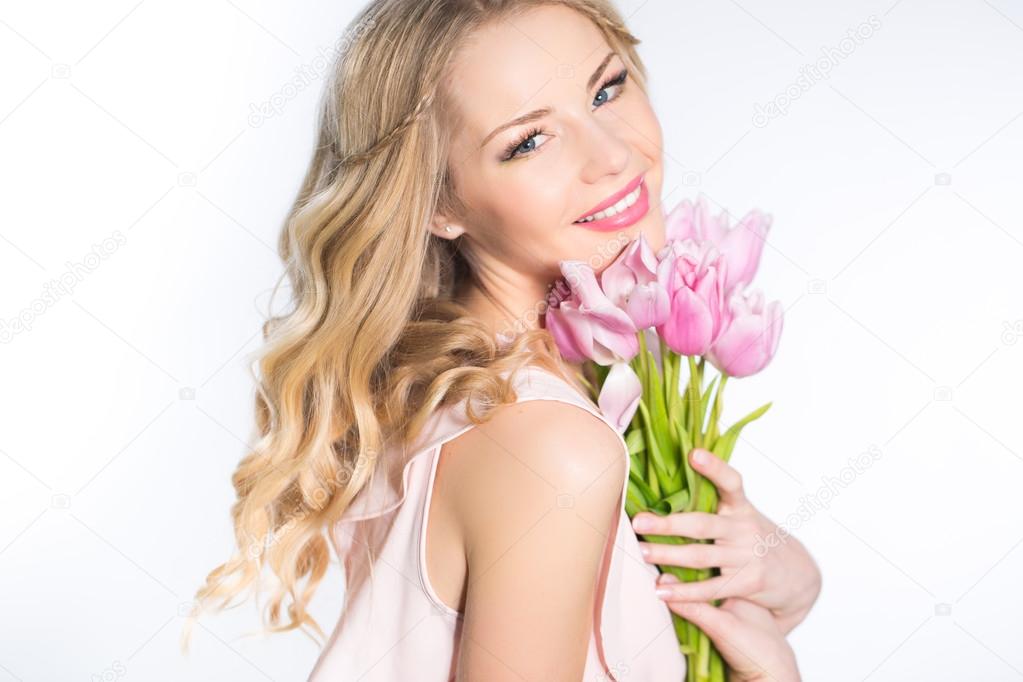
<path fill-rule="evenodd" d="M 620 513 L 621 441 L 585 410 L 497 408 L 449 450 L 468 578 L 457 679 L 582 679 L 597 573 Z"/>

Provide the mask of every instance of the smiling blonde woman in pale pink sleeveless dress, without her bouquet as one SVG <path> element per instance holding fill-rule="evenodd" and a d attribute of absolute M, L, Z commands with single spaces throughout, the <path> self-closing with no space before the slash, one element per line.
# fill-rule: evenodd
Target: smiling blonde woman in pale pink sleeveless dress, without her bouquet
<path fill-rule="evenodd" d="M 641 547 L 624 441 L 543 328 L 560 261 L 664 242 L 638 41 L 608 0 L 375 0 L 346 42 L 280 237 L 294 306 L 264 330 L 237 553 L 199 605 L 269 566 L 270 629 L 325 638 L 307 606 L 333 551 L 312 682 L 677 682 L 669 609 L 731 680 L 798 680 L 813 560 L 795 539 L 756 555 L 773 527 L 723 462 L 720 514 L 661 521 L 718 542 Z M 661 597 L 654 563 L 743 570 Z"/>

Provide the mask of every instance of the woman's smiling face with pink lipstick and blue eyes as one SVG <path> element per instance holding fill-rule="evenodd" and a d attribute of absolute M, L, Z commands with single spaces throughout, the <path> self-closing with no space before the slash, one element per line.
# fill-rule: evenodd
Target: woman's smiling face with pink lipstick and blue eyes
<path fill-rule="evenodd" d="M 661 128 L 624 70 L 596 27 L 561 5 L 494 22 L 459 52 L 447 84 L 460 119 L 449 163 L 468 215 L 439 216 L 433 230 L 464 233 L 485 281 L 546 285 L 562 260 L 599 272 L 640 232 L 663 244 Z M 617 218 L 576 222 L 633 187 L 638 201 Z"/>

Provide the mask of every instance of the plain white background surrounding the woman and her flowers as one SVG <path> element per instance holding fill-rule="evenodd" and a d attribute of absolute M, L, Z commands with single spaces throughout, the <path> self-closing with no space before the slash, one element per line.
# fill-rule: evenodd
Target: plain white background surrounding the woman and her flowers
<path fill-rule="evenodd" d="M 0 4 L 0 680 L 312 668 L 301 634 L 241 638 L 251 602 L 204 620 L 188 658 L 177 638 L 231 547 L 247 354 L 313 144 L 322 79 L 287 84 L 360 6 Z M 825 502 L 791 525 L 825 576 L 791 636 L 804 679 L 1023 678 L 1023 8 L 619 6 L 666 207 L 703 192 L 774 219 L 757 283 L 785 331 L 724 420 L 772 400 L 732 459 L 751 499 L 779 522 Z M 831 76 L 800 89 L 826 49 Z M 327 630 L 339 580 L 314 603 Z"/>

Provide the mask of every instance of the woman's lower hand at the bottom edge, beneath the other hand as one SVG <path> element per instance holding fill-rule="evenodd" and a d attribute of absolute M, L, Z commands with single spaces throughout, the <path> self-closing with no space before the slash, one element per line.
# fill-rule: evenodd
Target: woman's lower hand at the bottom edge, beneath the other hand
<path fill-rule="evenodd" d="M 662 574 L 659 585 L 677 585 Z M 796 654 L 771 612 L 747 599 L 729 597 L 720 606 L 668 601 L 668 608 L 707 633 L 731 671 L 729 682 L 799 682 Z"/>

